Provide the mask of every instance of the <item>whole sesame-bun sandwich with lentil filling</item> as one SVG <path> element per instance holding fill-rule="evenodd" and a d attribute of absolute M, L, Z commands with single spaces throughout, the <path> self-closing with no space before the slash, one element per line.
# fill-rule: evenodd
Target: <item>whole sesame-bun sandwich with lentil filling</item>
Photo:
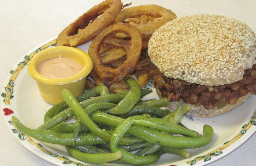
<path fill-rule="evenodd" d="M 176 18 L 148 43 L 150 76 L 160 98 L 188 115 L 212 117 L 256 94 L 256 35 L 245 23 L 212 14 Z"/>

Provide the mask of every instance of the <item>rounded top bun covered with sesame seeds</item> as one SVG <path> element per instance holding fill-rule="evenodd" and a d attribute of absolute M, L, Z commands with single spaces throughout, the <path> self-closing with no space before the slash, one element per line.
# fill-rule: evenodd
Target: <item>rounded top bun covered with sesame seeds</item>
<path fill-rule="evenodd" d="M 232 18 L 190 15 L 157 29 L 148 55 L 167 77 L 206 86 L 231 84 L 256 63 L 256 35 Z"/>

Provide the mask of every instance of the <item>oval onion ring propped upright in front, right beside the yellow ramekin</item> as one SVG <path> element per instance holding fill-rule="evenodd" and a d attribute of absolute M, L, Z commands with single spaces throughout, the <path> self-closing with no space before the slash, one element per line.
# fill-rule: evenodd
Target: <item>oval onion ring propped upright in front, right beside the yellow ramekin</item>
<path fill-rule="evenodd" d="M 127 59 L 123 62 L 121 66 L 117 68 L 111 68 L 103 64 L 101 61 L 98 51 L 100 45 L 103 43 L 104 39 L 108 37 L 112 32 L 123 31 L 129 34 L 131 38 L 129 45 L 125 47 Z M 93 71 L 98 74 L 105 85 L 110 85 L 115 82 L 120 82 L 126 77 L 127 74 L 134 72 L 136 64 L 140 59 L 140 53 L 142 49 L 142 35 L 140 30 L 130 24 L 114 24 L 102 32 L 100 32 L 90 44 L 88 54 L 92 57 L 93 61 Z"/>

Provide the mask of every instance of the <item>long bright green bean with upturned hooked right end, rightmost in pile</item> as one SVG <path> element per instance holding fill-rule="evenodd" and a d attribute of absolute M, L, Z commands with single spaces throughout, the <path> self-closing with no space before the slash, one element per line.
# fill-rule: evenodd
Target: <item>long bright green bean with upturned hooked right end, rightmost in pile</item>
<path fill-rule="evenodd" d="M 115 117 L 106 113 L 93 113 L 91 115 L 93 121 L 105 125 L 118 125 L 124 119 Z M 204 135 L 199 137 L 179 137 L 172 136 L 160 131 L 149 129 L 144 126 L 134 125 L 130 128 L 128 133 L 148 141 L 149 143 L 159 144 L 164 146 L 171 146 L 177 148 L 196 148 L 207 145 L 212 140 L 213 129 L 209 125 L 204 126 Z M 155 137 L 158 135 L 158 137 Z"/>

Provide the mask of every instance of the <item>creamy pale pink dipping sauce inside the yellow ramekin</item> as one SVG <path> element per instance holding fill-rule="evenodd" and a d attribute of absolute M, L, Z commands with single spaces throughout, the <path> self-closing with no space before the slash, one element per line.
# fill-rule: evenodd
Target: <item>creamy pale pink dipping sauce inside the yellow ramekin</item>
<path fill-rule="evenodd" d="M 78 74 L 82 69 L 82 64 L 72 58 L 55 57 L 42 62 L 38 72 L 48 78 L 67 78 Z"/>

